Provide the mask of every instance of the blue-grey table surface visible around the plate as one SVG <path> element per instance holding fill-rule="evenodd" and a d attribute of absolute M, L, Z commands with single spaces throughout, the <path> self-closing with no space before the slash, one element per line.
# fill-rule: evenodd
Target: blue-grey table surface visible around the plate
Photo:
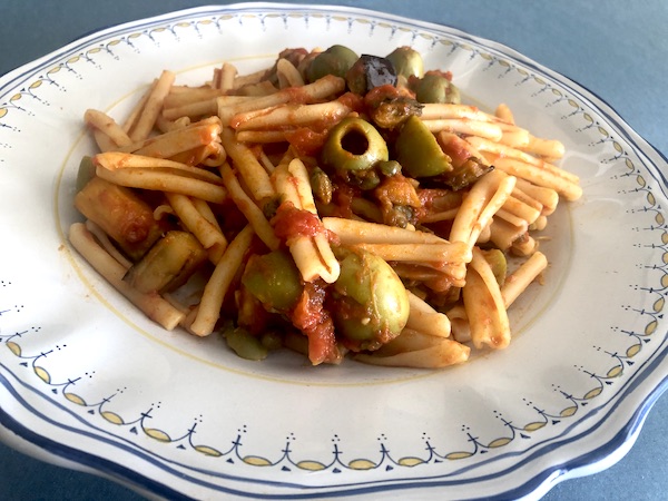
<path fill-rule="evenodd" d="M 91 31 L 214 1 L 0 0 L 0 75 Z M 504 43 L 596 92 L 668 156 L 668 2 L 665 0 L 308 1 L 382 10 Z M 134 500 L 98 477 L 53 466 L 0 444 L 2 500 Z M 668 396 L 617 464 L 568 480 L 544 500 L 668 499 Z"/>

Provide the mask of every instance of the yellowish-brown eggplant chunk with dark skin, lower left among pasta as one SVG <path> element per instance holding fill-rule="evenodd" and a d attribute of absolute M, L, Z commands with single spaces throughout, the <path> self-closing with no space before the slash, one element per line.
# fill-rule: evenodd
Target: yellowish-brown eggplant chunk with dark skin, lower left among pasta
<path fill-rule="evenodd" d="M 188 232 L 167 232 L 124 277 L 143 293 L 169 292 L 184 285 L 208 254 Z"/>

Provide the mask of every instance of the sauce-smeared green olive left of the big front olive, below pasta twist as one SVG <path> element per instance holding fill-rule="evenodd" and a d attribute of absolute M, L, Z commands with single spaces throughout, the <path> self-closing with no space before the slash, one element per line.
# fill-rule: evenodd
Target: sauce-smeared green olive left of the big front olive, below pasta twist
<path fill-rule="evenodd" d="M 302 275 L 287 250 L 250 256 L 242 283 L 267 310 L 274 312 L 289 311 L 304 289 Z"/>

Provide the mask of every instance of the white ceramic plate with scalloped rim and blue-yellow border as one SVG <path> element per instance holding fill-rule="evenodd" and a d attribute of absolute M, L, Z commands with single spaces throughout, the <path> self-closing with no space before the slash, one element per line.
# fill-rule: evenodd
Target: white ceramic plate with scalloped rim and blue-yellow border
<path fill-rule="evenodd" d="M 484 109 L 562 140 L 584 196 L 562 204 L 511 346 L 445 371 L 289 354 L 249 363 L 168 333 L 72 252 L 87 108 L 122 117 L 167 68 L 250 71 L 285 47 L 411 45 Z M 623 453 L 665 389 L 666 160 L 603 102 L 498 43 L 379 12 L 239 4 L 107 29 L 0 80 L 0 421 L 159 495 L 540 495 Z"/>

